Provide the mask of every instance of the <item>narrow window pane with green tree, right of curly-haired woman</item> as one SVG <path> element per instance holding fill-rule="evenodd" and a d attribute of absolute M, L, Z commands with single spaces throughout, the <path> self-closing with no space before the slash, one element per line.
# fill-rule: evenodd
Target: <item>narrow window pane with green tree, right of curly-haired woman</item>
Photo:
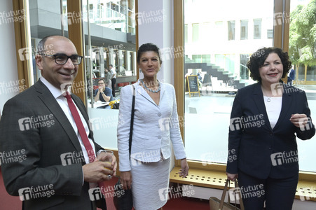
<path fill-rule="evenodd" d="M 289 57 L 291 59 L 295 76 L 293 85 L 306 92 L 311 118 L 316 120 L 316 33 L 315 33 L 315 0 L 291 0 L 291 13 L 284 14 L 289 25 Z M 313 31 L 313 32 L 311 32 Z M 308 141 L 298 140 L 298 153 L 300 154 L 300 170 L 316 172 L 314 160 L 316 153 L 316 137 Z"/>

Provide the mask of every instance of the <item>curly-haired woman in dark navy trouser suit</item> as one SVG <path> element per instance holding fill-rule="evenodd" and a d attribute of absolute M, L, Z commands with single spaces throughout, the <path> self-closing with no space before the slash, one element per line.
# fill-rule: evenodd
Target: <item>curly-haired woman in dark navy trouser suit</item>
<path fill-rule="evenodd" d="M 250 57 L 258 81 L 236 94 L 228 136 L 228 179 L 238 179 L 246 210 L 291 209 L 298 183 L 296 137 L 310 139 L 315 126 L 306 94 L 282 83 L 291 62 L 279 48 Z"/>

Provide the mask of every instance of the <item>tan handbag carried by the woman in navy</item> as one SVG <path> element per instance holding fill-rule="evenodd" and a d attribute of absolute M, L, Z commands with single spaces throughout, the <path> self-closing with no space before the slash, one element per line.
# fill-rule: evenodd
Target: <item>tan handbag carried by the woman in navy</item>
<path fill-rule="evenodd" d="M 223 190 L 223 194 L 221 195 L 221 200 L 219 200 L 217 197 L 209 197 L 209 209 L 210 210 L 231 210 L 231 209 L 245 210 L 244 203 L 242 202 L 242 195 L 240 193 L 240 190 L 238 190 L 238 194 L 240 194 L 239 195 L 240 208 L 237 207 L 236 197 L 235 197 L 235 205 L 231 204 L 229 195 L 228 195 L 228 202 L 224 202 L 227 188 L 228 188 L 228 183 L 230 183 L 230 181 L 227 179 L 226 184 L 225 184 L 225 188 Z M 237 181 L 235 181 L 235 188 L 238 188 Z M 236 196 L 235 193 L 234 193 L 234 195 Z"/>

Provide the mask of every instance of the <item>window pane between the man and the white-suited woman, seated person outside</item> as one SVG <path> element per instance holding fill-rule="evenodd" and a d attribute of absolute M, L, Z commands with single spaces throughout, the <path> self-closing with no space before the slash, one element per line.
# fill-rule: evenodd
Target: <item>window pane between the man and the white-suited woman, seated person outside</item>
<path fill-rule="evenodd" d="M 103 102 L 101 97 L 99 102 L 96 97 L 99 83 L 103 82 L 100 79 L 104 79 L 107 88 L 111 89 L 113 98 L 110 103 L 119 103 L 121 88 L 137 80 L 135 1 L 90 2 L 93 7 L 89 11 L 83 10 L 83 20 L 87 24 L 90 17 L 90 31 L 84 31 L 91 43 L 91 46 L 85 43 L 87 81 L 89 90 L 92 89 L 88 94 L 88 113 L 95 140 L 108 148 L 117 148 L 118 109 L 111 109 L 109 102 Z M 83 1 L 83 8 L 86 8 L 85 3 Z M 106 32 L 99 34 L 99 31 Z M 110 65 L 116 72 L 116 85 L 112 85 Z"/>

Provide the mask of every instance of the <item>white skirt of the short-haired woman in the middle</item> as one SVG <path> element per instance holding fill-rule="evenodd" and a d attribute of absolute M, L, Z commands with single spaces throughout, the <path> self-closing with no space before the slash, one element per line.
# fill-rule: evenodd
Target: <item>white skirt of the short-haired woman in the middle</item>
<path fill-rule="evenodd" d="M 167 203 L 170 158 L 162 162 L 138 162 L 131 158 L 132 197 L 136 210 L 157 210 Z"/>

